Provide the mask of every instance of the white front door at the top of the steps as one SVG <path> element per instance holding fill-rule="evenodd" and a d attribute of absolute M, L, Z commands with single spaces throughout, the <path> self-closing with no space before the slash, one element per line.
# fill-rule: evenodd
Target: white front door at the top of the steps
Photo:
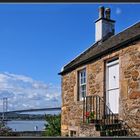
<path fill-rule="evenodd" d="M 106 104 L 113 113 L 119 113 L 119 60 L 106 64 Z"/>

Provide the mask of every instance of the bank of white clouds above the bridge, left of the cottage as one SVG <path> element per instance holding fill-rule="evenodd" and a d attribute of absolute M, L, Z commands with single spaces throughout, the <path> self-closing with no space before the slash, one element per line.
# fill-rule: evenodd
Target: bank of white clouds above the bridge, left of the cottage
<path fill-rule="evenodd" d="M 0 73 L 0 111 L 4 97 L 8 98 L 8 110 L 61 106 L 59 86 L 8 72 Z"/>

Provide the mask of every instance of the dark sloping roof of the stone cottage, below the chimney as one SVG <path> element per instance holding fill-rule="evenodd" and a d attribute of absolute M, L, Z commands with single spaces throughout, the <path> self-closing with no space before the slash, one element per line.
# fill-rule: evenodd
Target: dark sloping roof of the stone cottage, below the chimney
<path fill-rule="evenodd" d="M 59 74 L 63 75 L 70 72 L 81 65 L 87 64 L 92 60 L 96 60 L 114 50 L 118 50 L 138 39 L 140 39 L 140 22 L 137 22 L 126 30 L 109 37 L 105 41 L 96 42 L 85 52 L 81 53 L 70 63 L 65 65 Z"/>

